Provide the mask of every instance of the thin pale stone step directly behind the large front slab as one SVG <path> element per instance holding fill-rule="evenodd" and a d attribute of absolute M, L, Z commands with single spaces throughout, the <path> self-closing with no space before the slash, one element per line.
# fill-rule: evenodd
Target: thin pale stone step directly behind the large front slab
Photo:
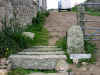
<path fill-rule="evenodd" d="M 55 52 L 19 52 L 19 55 L 63 55 L 64 51 Z"/>

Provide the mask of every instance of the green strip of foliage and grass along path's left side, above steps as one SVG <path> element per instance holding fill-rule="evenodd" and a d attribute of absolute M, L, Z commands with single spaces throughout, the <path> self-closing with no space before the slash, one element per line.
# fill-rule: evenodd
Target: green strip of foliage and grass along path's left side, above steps
<path fill-rule="evenodd" d="M 48 45 L 49 32 L 44 28 L 47 13 L 38 12 L 37 17 L 33 18 L 32 25 L 26 31 L 35 33 L 33 45 Z"/>

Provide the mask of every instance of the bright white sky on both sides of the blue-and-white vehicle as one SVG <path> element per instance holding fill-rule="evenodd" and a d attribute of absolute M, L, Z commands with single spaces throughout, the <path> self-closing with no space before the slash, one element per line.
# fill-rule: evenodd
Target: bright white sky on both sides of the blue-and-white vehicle
<path fill-rule="evenodd" d="M 86 0 L 67 0 L 67 1 L 70 1 L 71 3 L 70 5 L 71 7 L 73 7 L 77 4 L 85 2 Z M 47 9 L 58 9 L 58 0 L 47 0 Z"/>

